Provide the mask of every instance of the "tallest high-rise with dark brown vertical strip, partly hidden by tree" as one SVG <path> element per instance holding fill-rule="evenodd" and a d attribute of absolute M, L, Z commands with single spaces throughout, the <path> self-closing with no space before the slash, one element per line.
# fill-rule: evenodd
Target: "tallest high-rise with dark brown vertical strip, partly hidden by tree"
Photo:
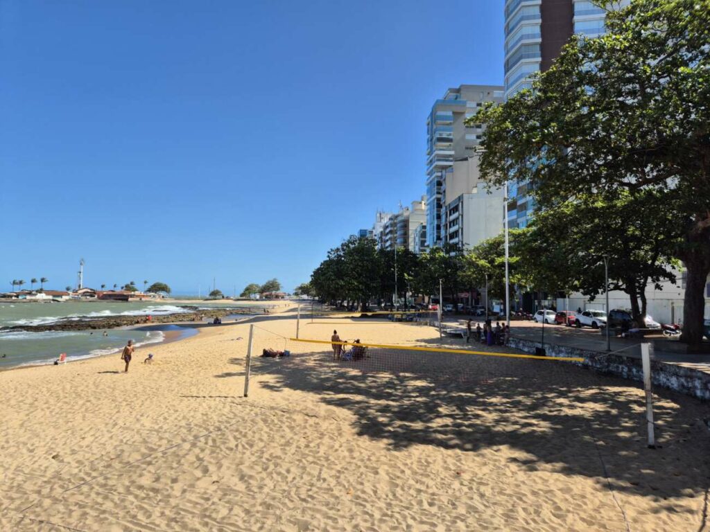
<path fill-rule="evenodd" d="M 616 8 L 630 0 L 619 0 Z M 506 0 L 506 99 L 530 88 L 530 76 L 545 72 L 573 33 L 589 38 L 606 30 L 606 11 L 591 0 Z M 508 224 L 525 227 L 535 209 L 528 183 L 508 185 Z"/>

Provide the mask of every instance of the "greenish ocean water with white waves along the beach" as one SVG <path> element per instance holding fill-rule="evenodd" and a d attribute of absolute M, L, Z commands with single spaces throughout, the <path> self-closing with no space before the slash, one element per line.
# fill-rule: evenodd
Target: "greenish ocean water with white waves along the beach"
<path fill-rule="evenodd" d="M 91 319 L 110 316 L 158 316 L 191 312 L 190 304 L 181 306 L 169 301 L 63 301 L 62 303 L 0 302 L 0 326 L 45 325 L 70 319 Z M 198 304 L 202 309 L 244 309 L 247 305 Z M 228 316 L 224 321 L 247 318 L 249 316 Z M 224 318 L 223 318 L 224 319 Z M 172 331 L 172 332 L 170 332 Z M 138 348 L 138 358 L 148 353 L 151 344 L 165 340 L 165 333 L 176 340 L 197 334 L 197 330 L 187 326 L 155 324 L 140 328 L 116 328 L 104 331 L 43 331 L 31 332 L 22 329 L 0 331 L 0 370 L 9 367 L 35 364 L 51 364 L 60 353 L 67 353 L 69 360 L 79 360 L 110 353 L 118 353 L 128 340 L 133 340 Z M 4 356 L 3 356 L 4 355 Z"/>

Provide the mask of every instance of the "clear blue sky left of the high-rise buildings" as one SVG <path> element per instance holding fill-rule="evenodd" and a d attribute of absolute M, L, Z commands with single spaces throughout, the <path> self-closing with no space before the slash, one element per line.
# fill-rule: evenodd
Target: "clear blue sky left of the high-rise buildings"
<path fill-rule="evenodd" d="M 0 281 L 307 281 L 503 82 L 503 0 L 0 0 Z"/>

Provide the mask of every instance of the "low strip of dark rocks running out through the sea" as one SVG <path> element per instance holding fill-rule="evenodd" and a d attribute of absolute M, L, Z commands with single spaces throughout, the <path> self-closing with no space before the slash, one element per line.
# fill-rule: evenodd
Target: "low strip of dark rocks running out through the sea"
<path fill-rule="evenodd" d="M 59 319 L 54 323 L 45 325 L 15 325 L 2 327 L 0 331 L 87 331 L 89 329 L 111 329 L 116 327 L 126 327 L 129 325 L 145 325 L 150 323 L 185 323 L 190 321 L 202 321 L 204 318 L 222 318 L 229 314 L 253 314 L 250 309 L 209 309 L 197 310 L 197 307 L 185 307 L 192 309 L 192 312 L 181 312 L 178 314 L 160 314 L 159 316 L 107 316 L 106 318 L 81 318 L 81 319 Z"/>

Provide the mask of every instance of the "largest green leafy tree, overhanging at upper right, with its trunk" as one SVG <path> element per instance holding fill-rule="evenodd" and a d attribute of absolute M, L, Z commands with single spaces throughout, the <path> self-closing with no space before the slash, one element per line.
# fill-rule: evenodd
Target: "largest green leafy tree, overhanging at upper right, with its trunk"
<path fill-rule="evenodd" d="M 581 195 L 655 194 L 638 223 L 645 237 L 674 213 L 665 236 L 686 270 L 681 340 L 699 343 L 710 273 L 710 3 L 635 0 L 608 13 L 606 28 L 565 46 L 532 90 L 474 118 L 486 126 L 481 173 L 529 181 L 541 211 Z"/>

